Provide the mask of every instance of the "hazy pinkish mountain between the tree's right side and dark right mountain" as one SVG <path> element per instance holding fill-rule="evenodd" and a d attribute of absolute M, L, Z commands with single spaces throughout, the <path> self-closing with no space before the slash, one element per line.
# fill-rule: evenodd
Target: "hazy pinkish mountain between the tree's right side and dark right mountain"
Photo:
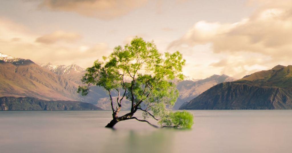
<path fill-rule="evenodd" d="M 173 80 L 179 91 L 179 97 L 173 109 L 178 109 L 180 105 L 182 105 L 184 102 L 194 99 L 199 94 L 213 87 L 214 85 L 235 80 L 237 79 L 224 74 L 212 75 L 206 79 L 201 79 L 197 81 L 183 80 L 178 82 L 178 80 Z"/>

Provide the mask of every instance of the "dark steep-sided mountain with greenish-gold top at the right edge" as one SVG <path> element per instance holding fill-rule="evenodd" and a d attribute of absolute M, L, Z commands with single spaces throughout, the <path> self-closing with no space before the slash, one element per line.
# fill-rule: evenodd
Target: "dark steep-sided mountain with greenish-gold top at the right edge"
<path fill-rule="evenodd" d="M 292 66 L 277 65 L 220 83 L 180 109 L 292 109 Z"/>

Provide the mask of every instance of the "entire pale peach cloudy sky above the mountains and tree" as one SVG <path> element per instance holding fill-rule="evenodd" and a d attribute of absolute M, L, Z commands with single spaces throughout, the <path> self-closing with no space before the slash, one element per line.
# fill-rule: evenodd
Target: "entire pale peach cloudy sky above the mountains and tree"
<path fill-rule="evenodd" d="M 183 54 L 183 73 L 235 78 L 291 65 L 291 0 L 0 0 L 0 52 L 89 67 L 135 36 Z"/>

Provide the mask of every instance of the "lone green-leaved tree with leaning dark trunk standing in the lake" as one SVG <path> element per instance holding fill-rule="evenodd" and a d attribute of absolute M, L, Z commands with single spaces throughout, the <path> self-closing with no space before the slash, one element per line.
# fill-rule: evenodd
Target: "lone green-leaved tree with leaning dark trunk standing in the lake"
<path fill-rule="evenodd" d="M 134 38 L 130 44 L 117 46 L 103 61 L 95 61 L 86 69 L 78 93 L 83 96 L 89 92 L 91 85 L 104 88 L 110 99 L 112 120 L 105 126 L 112 128 L 120 121 L 136 119 L 151 124 L 152 117 L 160 127 L 191 128 L 193 115 L 187 111 L 172 112 L 171 108 L 178 98 L 178 90 L 168 80 L 183 79 L 182 66 L 185 64 L 182 54 L 176 51 L 159 53 L 153 42 Z M 117 94 L 117 98 L 113 98 Z M 123 100 L 131 101 L 131 110 L 119 116 Z M 114 108 L 114 103 L 117 107 Z M 134 117 L 137 110 L 143 111 L 144 119 Z"/>

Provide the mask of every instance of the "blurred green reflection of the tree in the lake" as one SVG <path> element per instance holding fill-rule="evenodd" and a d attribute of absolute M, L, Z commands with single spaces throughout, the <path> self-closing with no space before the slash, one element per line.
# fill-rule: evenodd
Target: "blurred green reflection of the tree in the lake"
<path fill-rule="evenodd" d="M 105 140 L 102 152 L 121 153 L 155 153 L 173 152 L 173 136 L 167 129 L 155 131 L 127 131 L 119 133 L 113 131 L 114 135 Z"/>

